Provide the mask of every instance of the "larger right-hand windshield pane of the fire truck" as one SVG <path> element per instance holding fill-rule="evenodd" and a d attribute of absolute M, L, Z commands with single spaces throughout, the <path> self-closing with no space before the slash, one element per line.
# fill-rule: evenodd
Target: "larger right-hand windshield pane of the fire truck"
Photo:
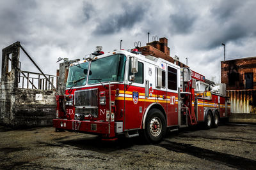
<path fill-rule="evenodd" d="M 90 67 L 88 84 L 106 81 L 124 81 L 125 61 L 126 57 L 122 54 L 93 60 Z"/>

